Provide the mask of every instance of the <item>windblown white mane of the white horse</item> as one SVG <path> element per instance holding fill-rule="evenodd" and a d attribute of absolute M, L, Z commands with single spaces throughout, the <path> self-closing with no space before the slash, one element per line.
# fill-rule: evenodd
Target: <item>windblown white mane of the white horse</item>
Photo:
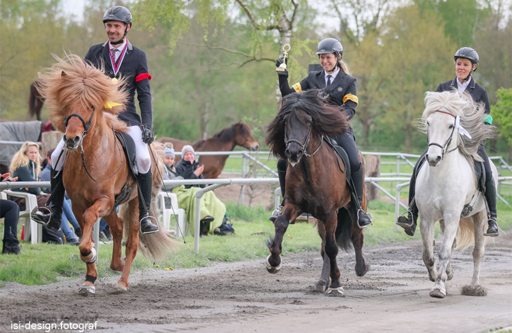
<path fill-rule="evenodd" d="M 481 161 L 482 158 L 477 153 L 480 141 L 495 135 L 495 127 L 484 123 L 484 103 L 477 103 L 468 92 L 460 94 L 455 89 L 440 93 L 428 91 L 425 93 L 425 110 L 423 110 L 418 126 L 423 133 L 428 130 L 426 118 L 436 111 L 460 116 L 460 126 L 466 129 L 472 138 L 459 133 L 457 135 L 459 151 L 466 157 L 473 157 L 475 160 Z"/>

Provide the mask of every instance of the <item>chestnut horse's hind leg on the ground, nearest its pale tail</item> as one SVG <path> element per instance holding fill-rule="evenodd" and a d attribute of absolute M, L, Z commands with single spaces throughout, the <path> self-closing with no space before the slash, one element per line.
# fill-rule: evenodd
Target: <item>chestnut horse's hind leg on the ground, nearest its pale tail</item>
<path fill-rule="evenodd" d="M 117 282 L 116 288 L 121 290 L 128 290 L 128 277 L 132 262 L 137 255 L 139 247 L 139 201 L 137 198 L 132 199 L 128 204 L 128 216 L 130 217 L 130 225 L 128 229 L 128 237 L 126 239 L 126 259 L 124 260 L 123 273 Z"/>

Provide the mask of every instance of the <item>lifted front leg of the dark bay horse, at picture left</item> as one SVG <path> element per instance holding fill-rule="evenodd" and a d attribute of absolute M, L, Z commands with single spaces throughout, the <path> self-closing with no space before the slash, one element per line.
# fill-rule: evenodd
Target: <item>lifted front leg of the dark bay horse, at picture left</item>
<path fill-rule="evenodd" d="M 295 219 L 302 212 L 297 212 L 291 203 L 285 204 L 283 213 L 274 221 L 275 236 L 270 245 L 270 255 L 267 257 L 267 270 L 269 273 L 278 273 L 281 269 L 281 243 L 286 233 L 290 219 Z"/>

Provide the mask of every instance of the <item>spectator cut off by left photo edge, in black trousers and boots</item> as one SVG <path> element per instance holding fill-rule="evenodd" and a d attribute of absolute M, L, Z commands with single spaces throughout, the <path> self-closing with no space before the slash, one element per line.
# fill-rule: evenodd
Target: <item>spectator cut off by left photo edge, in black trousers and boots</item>
<path fill-rule="evenodd" d="M 0 181 L 16 181 L 17 178 L 9 177 L 11 174 L 3 174 Z M 12 200 L 0 200 L 0 218 L 4 219 L 4 239 L 2 239 L 2 254 L 24 254 L 19 249 L 18 220 L 19 206 Z"/>

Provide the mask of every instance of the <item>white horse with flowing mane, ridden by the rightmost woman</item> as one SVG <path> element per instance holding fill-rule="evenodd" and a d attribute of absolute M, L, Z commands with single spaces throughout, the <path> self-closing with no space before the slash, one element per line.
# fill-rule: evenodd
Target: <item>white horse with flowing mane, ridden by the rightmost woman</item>
<path fill-rule="evenodd" d="M 431 297 L 446 296 L 445 282 L 453 278 L 450 260 L 456 246 L 467 248 L 475 245 L 471 286 L 479 287 L 487 210 L 485 198 L 478 191 L 473 159 L 482 161 L 477 153 L 478 145 L 494 133 L 492 126 L 484 124 L 483 113 L 483 104 L 475 103 L 468 93 L 461 95 L 456 91 L 446 91 L 425 94 L 422 129 L 429 142 L 425 155 L 428 164 L 425 163 L 417 175 L 416 203 L 423 240 L 423 262 L 430 280 L 435 281 Z M 496 166 L 490 165 L 497 182 Z M 468 215 L 467 207 L 464 210 L 467 204 L 473 207 Z M 438 268 L 433 251 L 436 221 L 444 233 Z"/>

